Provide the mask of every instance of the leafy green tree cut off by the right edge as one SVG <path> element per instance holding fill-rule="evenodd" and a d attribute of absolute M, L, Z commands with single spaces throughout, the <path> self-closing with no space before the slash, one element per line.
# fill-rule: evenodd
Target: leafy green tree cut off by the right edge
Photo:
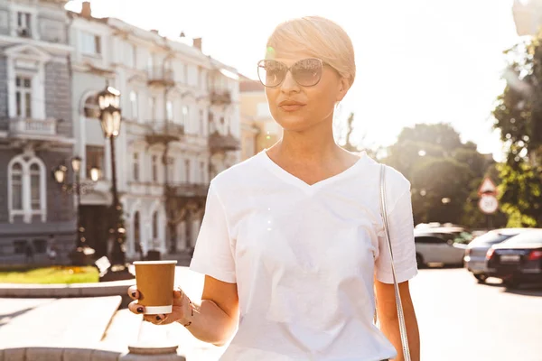
<path fill-rule="evenodd" d="M 509 51 L 507 86 L 493 110 L 507 146 L 500 201 L 509 226 L 542 226 L 542 34 Z"/>

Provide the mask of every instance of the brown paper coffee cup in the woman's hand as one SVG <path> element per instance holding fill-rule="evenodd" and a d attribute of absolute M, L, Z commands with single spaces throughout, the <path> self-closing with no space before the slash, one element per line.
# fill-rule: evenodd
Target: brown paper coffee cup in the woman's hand
<path fill-rule="evenodd" d="M 135 261 L 138 303 L 146 315 L 172 313 L 175 265 L 177 261 Z"/>

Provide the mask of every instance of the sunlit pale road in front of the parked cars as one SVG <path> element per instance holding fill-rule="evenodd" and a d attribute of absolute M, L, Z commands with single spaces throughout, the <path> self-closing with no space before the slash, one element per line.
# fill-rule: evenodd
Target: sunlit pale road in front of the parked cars
<path fill-rule="evenodd" d="M 478 284 L 464 269 L 411 281 L 423 361 L 542 361 L 542 287 Z"/>

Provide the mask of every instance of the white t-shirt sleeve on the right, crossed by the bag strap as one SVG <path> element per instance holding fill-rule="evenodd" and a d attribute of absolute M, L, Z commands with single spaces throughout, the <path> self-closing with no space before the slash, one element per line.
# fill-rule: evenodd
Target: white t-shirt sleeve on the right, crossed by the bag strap
<path fill-rule="evenodd" d="M 400 187 L 402 190 L 399 197 L 396 198 L 395 205 L 390 204 L 387 196 L 389 236 L 391 238 L 397 283 L 406 282 L 417 274 L 410 183 L 406 179 L 403 180 Z M 378 235 L 378 258 L 375 261 L 375 272 L 378 281 L 393 283 L 391 255 L 389 254 L 388 240 L 384 232 L 382 230 Z"/>

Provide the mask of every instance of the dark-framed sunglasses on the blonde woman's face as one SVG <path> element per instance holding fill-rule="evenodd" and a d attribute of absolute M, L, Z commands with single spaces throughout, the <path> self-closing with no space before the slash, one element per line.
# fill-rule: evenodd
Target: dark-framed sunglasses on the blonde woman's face
<path fill-rule="evenodd" d="M 291 67 L 277 60 L 259 60 L 257 76 L 266 88 L 276 88 L 285 81 L 288 71 L 294 80 L 302 87 L 313 87 L 322 79 L 323 60 L 309 58 L 298 60 Z"/>

